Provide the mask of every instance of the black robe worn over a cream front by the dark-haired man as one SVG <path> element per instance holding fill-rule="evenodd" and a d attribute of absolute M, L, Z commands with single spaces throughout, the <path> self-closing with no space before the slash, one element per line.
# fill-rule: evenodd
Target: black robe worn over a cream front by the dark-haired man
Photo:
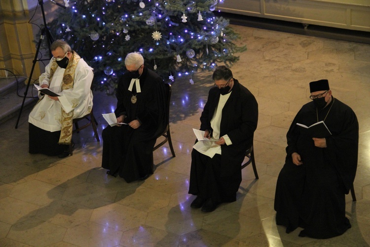
<path fill-rule="evenodd" d="M 212 87 L 200 117 L 200 129 L 210 130 L 211 120 L 219 105 L 220 90 Z M 241 165 L 245 151 L 253 143 L 258 123 L 258 103 L 255 96 L 236 79 L 231 94 L 222 109 L 220 136 L 228 135 L 232 144 L 222 145 L 222 155 L 210 158 L 195 149 L 191 152 L 189 194 L 211 198 L 214 203 L 236 200 L 242 181 Z"/>

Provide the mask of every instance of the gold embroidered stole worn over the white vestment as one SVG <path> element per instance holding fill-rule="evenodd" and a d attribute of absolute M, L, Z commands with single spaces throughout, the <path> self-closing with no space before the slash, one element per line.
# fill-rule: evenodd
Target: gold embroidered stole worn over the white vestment
<path fill-rule="evenodd" d="M 74 84 L 74 72 L 77 66 L 78 61 L 80 60 L 80 56 L 76 53 L 72 53 L 72 57 L 67 65 L 66 70 L 63 74 L 63 83 L 62 83 L 62 91 L 66 89 L 73 88 Z M 50 81 L 54 75 L 55 70 L 58 68 L 58 64 L 56 63 L 55 59 L 52 61 L 50 66 Z M 72 141 L 72 131 L 73 131 L 73 112 L 66 113 L 61 107 L 62 111 L 62 130 L 59 137 L 59 144 L 71 144 Z"/>

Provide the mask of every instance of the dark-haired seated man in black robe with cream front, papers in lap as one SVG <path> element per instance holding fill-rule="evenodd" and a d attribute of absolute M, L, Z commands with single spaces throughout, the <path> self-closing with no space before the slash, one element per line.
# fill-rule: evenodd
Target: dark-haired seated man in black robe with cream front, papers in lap
<path fill-rule="evenodd" d="M 219 66 L 200 117 L 204 137 L 216 142 L 197 142 L 191 152 L 189 194 L 197 197 L 192 208 L 211 212 L 221 203 L 234 202 L 242 181 L 245 151 L 253 144 L 258 104 L 253 94 L 230 69 Z"/>

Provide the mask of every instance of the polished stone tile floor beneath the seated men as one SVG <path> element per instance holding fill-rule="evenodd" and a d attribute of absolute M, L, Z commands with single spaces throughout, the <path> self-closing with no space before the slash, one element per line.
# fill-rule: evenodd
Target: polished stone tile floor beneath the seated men
<path fill-rule="evenodd" d="M 187 194 L 192 128 L 213 85 L 199 73 L 173 84 L 171 134 L 154 152 L 154 175 L 127 184 L 100 167 L 102 143 L 88 128 L 74 135 L 74 155 L 65 159 L 28 154 L 29 111 L 0 128 L 0 246 L 369 246 L 370 244 L 370 47 L 255 28 L 234 26 L 248 50 L 232 68 L 259 102 L 255 155 L 243 170 L 237 201 L 212 213 L 191 209 Z M 329 79 L 334 97 L 356 112 L 360 151 L 355 191 L 347 196 L 352 228 L 329 240 L 299 238 L 276 226 L 275 184 L 285 158 L 285 134 L 300 106 L 308 102 L 308 82 Z M 95 93 L 99 133 L 101 113 L 115 99 Z"/>

